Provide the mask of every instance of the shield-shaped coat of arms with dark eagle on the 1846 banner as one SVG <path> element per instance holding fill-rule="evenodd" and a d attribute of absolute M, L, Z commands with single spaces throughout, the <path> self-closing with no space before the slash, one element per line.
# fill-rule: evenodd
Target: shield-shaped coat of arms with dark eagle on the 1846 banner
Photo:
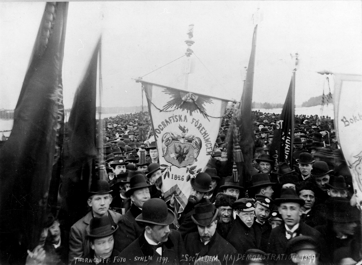
<path fill-rule="evenodd" d="M 163 157 L 177 167 L 192 165 L 197 161 L 202 142 L 199 137 L 188 134 L 189 129 L 178 125 L 181 133 L 170 132 L 162 136 Z"/>

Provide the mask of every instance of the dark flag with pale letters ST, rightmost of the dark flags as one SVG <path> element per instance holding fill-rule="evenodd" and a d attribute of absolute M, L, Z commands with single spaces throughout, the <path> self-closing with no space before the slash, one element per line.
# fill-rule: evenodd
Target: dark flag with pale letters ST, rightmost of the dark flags
<path fill-rule="evenodd" d="M 294 141 L 294 91 L 295 72 L 290 80 L 289 90 L 282 114 L 277 121 L 277 129 L 274 130 L 273 142 L 269 148 L 270 157 L 274 161 L 274 169 L 277 170 L 279 162 L 287 162 L 293 168 L 293 141 Z"/>

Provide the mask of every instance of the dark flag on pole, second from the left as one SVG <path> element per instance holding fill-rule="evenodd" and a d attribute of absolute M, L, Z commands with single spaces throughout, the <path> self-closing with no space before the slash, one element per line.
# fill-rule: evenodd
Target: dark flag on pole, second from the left
<path fill-rule="evenodd" d="M 62 215 L 66 227 L 85 215 L 87 192 L 94 178 L 93 158 L 96 148 L 96 91 L 97 57 L 100 42 L 93 52 L 84 79 L 77 88 L 68 120 L 67 136 L 64 140 L 64 170 L 60 195 L 63 199 Z"/>

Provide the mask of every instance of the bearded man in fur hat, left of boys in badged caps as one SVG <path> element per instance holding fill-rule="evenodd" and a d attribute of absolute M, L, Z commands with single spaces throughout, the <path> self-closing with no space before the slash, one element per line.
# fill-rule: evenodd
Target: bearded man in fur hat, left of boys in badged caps
<path fill-rule="evenodd" d="M 218 225 L 216 231 L 219 235 L 226 239 L 227 234 L 229 233 L 230 228 L 234 224 L 233 216 L 233 203 L 235 202 L 235 197 L 225 193 L 218 193 L 215 199 L 215 207 L 219 210 L 218 215 Z"/>

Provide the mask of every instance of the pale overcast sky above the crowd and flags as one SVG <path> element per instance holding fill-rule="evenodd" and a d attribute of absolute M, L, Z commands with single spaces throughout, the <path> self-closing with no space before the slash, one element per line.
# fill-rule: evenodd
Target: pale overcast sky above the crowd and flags
<path fill-rule="evenodd" d="M 13 109 L 45 3 L 0 3 L 0 108 Z M 70 108 L 102 32 L 102 106 L 141 104 L 138 76 L 184 55 L 189 24 L 193 73 L 188 89 L 240 100 L 260 8 L 253 101 L 283 103 L 298 52 L 296 104 L 329 92 L 316 71 L 362 74 L 361 1 L 70 2 L 63 60 L 64 105 Z M 144 80 L 184 88 L 185 57 Z M 333 92 L 333 91 L 332 91 Z M 145 100 L 146 103 L 146 100 Z"/>

